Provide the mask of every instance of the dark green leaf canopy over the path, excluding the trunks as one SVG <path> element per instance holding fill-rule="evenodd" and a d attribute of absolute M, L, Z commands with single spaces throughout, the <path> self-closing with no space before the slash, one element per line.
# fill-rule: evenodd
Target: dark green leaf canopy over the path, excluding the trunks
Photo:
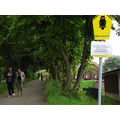
<path fill-rule="evenodd" d="M 75 68 L 82 57 L 84 24 L 82 16 L 1 16 L 2 66 L 12 66 L 14 70 L 20 67 L 27 76 L 31 74 L 29 69 L 50 71 L 52 61 L 64 67 L 62 46 Z M 62 76 L 64 71 L 61 67 Z"/>

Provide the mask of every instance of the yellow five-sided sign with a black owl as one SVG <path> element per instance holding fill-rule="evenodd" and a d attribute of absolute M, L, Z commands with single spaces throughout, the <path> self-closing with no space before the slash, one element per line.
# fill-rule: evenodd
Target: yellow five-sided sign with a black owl
<path fill-rule="evenodd" d="M 108 15 L 97 15 L 93 18 L 95 40 L 109 40 L 112 18 Z"/>

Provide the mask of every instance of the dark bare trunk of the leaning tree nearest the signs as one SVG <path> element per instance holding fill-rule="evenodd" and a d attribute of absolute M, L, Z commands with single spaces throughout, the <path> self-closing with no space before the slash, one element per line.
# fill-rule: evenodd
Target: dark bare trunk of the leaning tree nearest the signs
<path fill-rule="evenodd" d="M 73 89 L 79 89 L 82 75 L 84 73 L 84 69 L 87 63 L 87 41 L 88 41 L 88 31 L 89 31 L 89 24 L 90 24 L 89 21 L 90 21 L 89 17 L 87 16 L 86 23 L 85 23 L 85 39 L 84 39 L 83 56 L 82 56 L 81 65 L 78 70 L 77 80 L 73 86 Z"/>

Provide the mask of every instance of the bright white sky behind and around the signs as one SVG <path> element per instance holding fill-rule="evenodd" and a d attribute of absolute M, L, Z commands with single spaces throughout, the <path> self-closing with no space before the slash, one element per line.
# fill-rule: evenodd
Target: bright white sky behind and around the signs
<path fill-rule="evenodd" d="M 117 29 L 118 23 L 113 20 L 113 26 Z M 120 36 L 116 35 L 116 30 L 111 30 L 109 42 L 112 44 L 112 55 L 120 56 Z M 103 58 L 103 62 L 107 58 Z M 94 57 L 92 61 L 99 63 L 99 57 Z"/>

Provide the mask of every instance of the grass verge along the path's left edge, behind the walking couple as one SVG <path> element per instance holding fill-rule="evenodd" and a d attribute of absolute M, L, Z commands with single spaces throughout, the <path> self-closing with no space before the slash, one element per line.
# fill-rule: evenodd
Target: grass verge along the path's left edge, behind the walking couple
<path fill-rule="evenodd" d="M 26 84 L 26 83 L 28 83 L 30 81 L 31 81 L 31 79 L 25 79 L 23 84 Z M 16 88 L 16 84 L 15 84 L 15 88 Z M 5 93 L 7 91 L 8 91 L 8 89 L 7 89 L 6 82 L 1 83 L 0 84 L 0 94 Z"/>

